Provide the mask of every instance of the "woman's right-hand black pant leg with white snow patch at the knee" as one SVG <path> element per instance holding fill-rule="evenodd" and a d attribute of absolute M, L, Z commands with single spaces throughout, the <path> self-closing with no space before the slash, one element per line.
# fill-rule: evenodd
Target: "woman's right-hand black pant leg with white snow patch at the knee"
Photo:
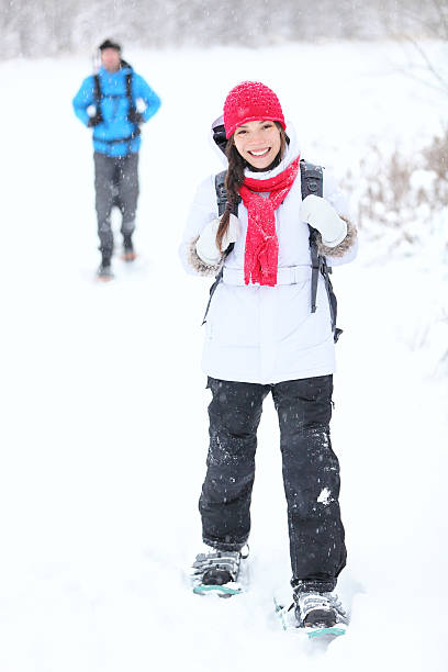
<path fill-rule="evenodd" d="M 339 463 L 329 438 L 333 377 L 273 385 L 279 415 L 292 585 L 332 591 L 346 563 Z"/>

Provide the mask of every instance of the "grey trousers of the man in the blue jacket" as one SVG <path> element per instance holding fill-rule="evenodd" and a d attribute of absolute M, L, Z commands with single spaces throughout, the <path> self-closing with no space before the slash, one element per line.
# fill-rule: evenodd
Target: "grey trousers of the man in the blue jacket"
<path fill-rule="evenodd" d="M 94 190 L 100 250 L 110 259 L 113 251 L 111 212 L 117 205 L 122 213 L 121 233 L 126 242 L 135 228 L 138 199 L 138 154 L 107 156 L 96 152 Z"/>

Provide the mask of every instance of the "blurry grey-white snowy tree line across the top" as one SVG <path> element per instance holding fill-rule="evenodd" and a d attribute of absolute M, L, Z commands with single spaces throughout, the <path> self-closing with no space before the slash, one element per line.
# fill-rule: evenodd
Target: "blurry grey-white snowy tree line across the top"
<path fill-rule="evenodd" d="M 0 57 L 446 36 L 446 0 L 0 0 Z"/>

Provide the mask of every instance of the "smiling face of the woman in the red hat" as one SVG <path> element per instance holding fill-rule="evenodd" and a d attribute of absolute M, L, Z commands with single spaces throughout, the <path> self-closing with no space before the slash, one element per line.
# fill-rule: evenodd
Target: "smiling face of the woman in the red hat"
<path fill-rule="evenodd" d="M 234 143 L 238 154 L 250 166 L 262 170 L 280 152 L 280 131 L 272 121 L 246 122 L 236 128 Z"/>

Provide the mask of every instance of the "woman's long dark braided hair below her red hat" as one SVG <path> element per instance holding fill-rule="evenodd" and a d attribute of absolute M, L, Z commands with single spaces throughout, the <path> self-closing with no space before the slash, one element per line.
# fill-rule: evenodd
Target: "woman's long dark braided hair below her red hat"
<path fill-rule="evenodd" d="M 273 161 L 270 164 L 270 166 L 262 169 L 264 171 L 271 170 L 272 168 L 275 168 L 276 166 L 280 164 L 281 159 L 284 156 L 284 148 L 288 142 L 287 134 L 284 133 L 283 126 L 280 124 L 280 122 L 273 122 L 273 123 L 280 131 L 280 150 L 278 155 L 276 156 L 276 158 L 273 159 Z M 234 135 L 235 135 L 234 133 L 231 135 L 225 146 L 225 156 L 227 157 L 227 160 L 228 160 L 227 175 L 225 176 L 225 190 L 227 192 L 227 206 L 224 211 L 223 216 L 221 217 L 220 226 L 217 227 L 217 232 L 216 232 L 217 249 L 221 249 L 223 238 L 228 228 L 228 223 L 231 221 L 231 212 L 237 202 L 237 199 L 239 195 L 239 187 L 242 187 L 244 182 L 245 168 L 250 168 L 250 170 L 256 171 L 256 168 L 254 168 L 254 166 L 251 166 L 248 161 L 246 161 L 242 157 L 239 152 L 237 150 L 235 146 Z"/>

